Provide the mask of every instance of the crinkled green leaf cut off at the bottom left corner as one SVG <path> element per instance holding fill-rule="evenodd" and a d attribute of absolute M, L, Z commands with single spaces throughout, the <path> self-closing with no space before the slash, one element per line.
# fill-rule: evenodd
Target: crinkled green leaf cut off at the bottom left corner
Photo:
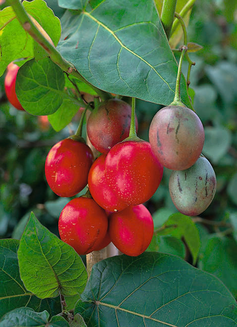
<path fill-rule="evenodd" d="M 49 316 L 47 311 L 37 313 L 30 308 L 18 308 L 2 317 L 0 327 L 44 327 L 48 323 Z"/>

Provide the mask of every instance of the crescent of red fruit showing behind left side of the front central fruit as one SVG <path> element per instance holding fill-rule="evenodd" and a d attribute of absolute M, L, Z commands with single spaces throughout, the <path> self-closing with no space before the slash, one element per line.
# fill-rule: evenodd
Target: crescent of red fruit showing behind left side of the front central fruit
<path fill-rule="evenodd" d="M 102 154 L 95 160 L 88 175 L 88 187 L 94 200 L 105 210 L 114 212 L 121 211 L 127 207 L 108 185 L 105 176 L 106 155 Z"/>

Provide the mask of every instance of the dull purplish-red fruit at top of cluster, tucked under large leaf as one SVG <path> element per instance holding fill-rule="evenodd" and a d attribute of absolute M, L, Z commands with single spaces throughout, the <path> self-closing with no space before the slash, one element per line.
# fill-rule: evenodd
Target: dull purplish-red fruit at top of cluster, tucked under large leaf
<path fill-rule="evenodd" d="M 125 101 L 110 99 L 93 110 L 87 121 L 87 134 L 92 145 L 101 153 L 108 153 L 116 144 L 128 137 L 131 107 Z M 136 129 L 138 123 L 136 119 Z"/>

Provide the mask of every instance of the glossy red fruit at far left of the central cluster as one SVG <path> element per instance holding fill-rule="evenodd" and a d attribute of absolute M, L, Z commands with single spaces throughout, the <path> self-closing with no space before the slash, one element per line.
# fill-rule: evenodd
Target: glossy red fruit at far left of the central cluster
<path fill-rule="evenodd" d="M 75 196 L 87 185 L 87 177 L 93 162 L 88 145 L 65 138 L 49 151 L 45 161 L 45 176 L 58 196 Z"/>

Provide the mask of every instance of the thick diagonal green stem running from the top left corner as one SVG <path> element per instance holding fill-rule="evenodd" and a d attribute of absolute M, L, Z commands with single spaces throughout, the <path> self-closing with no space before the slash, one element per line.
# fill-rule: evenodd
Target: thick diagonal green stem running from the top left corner
<path fill-rule="evenodd" d="M 21 4 L 19 0 L 8 0 L 8 4 L 11 5 L 12 9 L 14 10 L 16 17 L 24 30 L 28 32 L 32 38 L 38 42 L 41 47 L 49 54 L 49 57 L 51 60 L 57 64 L 63 71 L 72 74 L 76 78 L 80 79 L 84 83 L 90 85 L 97 94 L 103 99 L 106 100 L 108 98 L 111 98 L 110 94 L 107 92 L 104 92 L 94 85 L 90 84 L 72 65 L 71 63 L 67 62 L 61 54 L 58 52 L 58 50 L 44 37 L 44 35 L 38 30 L 38 28 L 33 24 L 32 20 L 28 16 L 27 12 L 25 11 L 25 8 Z"/>

